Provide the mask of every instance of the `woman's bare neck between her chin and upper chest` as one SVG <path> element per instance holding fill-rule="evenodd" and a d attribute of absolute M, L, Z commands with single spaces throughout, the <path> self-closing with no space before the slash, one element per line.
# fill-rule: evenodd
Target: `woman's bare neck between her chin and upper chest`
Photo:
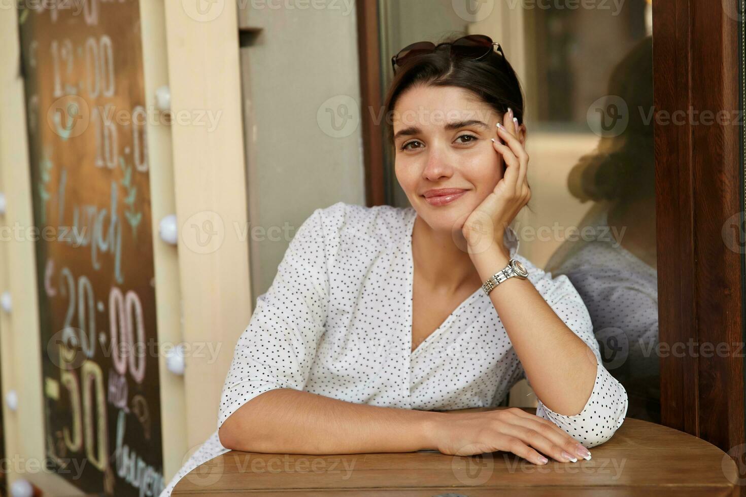
<path fill-rule="evenodd" d="M 419 216 L 412 230 L 412 259 L 420 280 L 434 291 L 456 293 L 465 285 L 481 285 L 471 257 L 457 246 L 454 235 L 434 231 Z"/>

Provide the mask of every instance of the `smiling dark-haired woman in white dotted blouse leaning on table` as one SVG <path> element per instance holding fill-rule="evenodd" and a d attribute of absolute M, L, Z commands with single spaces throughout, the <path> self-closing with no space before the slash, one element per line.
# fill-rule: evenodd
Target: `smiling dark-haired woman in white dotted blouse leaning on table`
<path fill-rule="evenodd" d="M 545 464 L 589 459 L 621 425 L 627 393 L 583 300 L 518 254 L 524 105 L 494 45 L 471 35 L 392 58 L 386 115 L 412 206 L 338 202 L 304 221 L 236 345 L 219 430 L 163 495 L 228 449 Z M 498 405 L 524 377 L 537 415 L 439 412 Z"/>

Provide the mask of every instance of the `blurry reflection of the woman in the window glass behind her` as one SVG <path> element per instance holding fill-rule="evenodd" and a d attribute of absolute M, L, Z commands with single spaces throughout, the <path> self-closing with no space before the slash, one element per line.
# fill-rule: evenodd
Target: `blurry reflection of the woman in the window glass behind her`
<path fill-rule="evenodd" d="M 545 269 L 568 276 L 586 303 L 604 365 L 627 389 L 627 416 L 659 422 L 652 69 L 651 37 L 615 66 L 608 95 L 628 121 L 572 168 L 571 193 L 594 201 L 578 224 L 586 235 L 565 241 Z"/>

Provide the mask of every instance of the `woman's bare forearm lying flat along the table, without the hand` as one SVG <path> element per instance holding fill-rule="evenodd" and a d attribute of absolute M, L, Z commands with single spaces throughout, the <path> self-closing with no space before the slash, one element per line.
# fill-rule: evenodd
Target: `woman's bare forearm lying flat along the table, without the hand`
<path fill-rule="evenodd" d="M 430 425 L 444 413 L 354 404 L 278 388 L 246 402 L 219 428 L 227 449 L 360 454 L 436 449 Z"/>

